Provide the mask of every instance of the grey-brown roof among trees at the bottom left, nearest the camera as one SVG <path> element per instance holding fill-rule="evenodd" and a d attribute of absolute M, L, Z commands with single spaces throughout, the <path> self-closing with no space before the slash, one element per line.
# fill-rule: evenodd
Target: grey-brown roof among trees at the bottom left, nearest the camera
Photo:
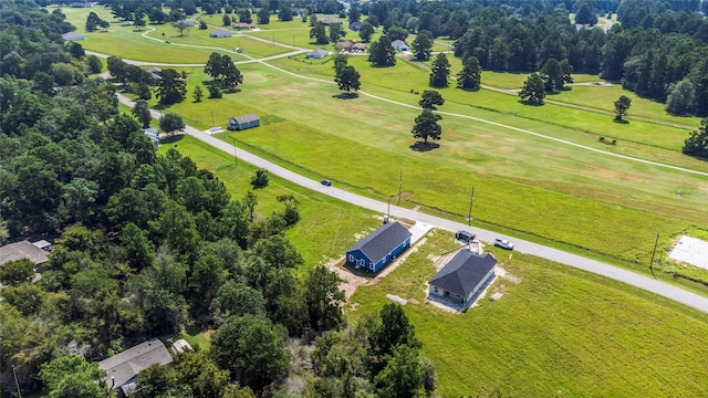
<path fill-rule="evenodd" d="M 98 363 L 98 367 L 106 371 L 108 386 L 119 388 L 150 365 L 167 365 L 171 364 L 171 362 L 173 357 L 169 356 L 163 342 L 153 338 L 121 354 L 103 359 Z M 113 380 L 111 379 L 112 377 Z M 115 384 L 112 386 L 113 383 Z"/>

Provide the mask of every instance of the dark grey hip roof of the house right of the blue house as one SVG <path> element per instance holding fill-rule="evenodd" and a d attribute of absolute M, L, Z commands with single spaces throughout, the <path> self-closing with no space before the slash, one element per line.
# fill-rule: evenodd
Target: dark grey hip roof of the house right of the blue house
<path fill-rule="evenodd" d="M 496 264 L 497 259 L 491 253 L 479 255 L 469 250 L 462 250 L 435 274 L 429 283 L 467 297 Z"/>

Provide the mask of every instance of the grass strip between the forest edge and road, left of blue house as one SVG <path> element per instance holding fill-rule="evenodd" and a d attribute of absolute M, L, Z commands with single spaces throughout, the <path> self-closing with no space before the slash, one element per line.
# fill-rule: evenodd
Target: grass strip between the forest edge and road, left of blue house
<path fill-rule="evenodd" d="M 260 217 L 282 211 L 283 206 L 277 197 L 293 195 L 300 202 L 301 220 L 287 231 L 287 235 L 305 260 L 300 272 L 324 260 L 342 256 L 343 251 L 356 242 L 356 234 L 381 223 L 367 210 L 309 191 L 272 175 L 268 187 L 253 189 L 250 180 L 256 172 L 254 167 L 243 161 L 238 161 L 237 166 L 231 155 L 196 138 L 180 136 L 168 139 L 160 145 L 158 153 L 164 154 L 169 148 L 190 157 L 199 168 L 214 172 L 235 199 L 241 200 L 248 191 L 253 191 L 258 197 L 256 212 Z"/>

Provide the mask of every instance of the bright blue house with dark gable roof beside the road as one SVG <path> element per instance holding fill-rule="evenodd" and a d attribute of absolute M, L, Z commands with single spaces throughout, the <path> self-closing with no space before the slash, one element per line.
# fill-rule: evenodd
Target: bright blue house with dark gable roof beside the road
<path fill-rule="evenodd" d="M 410 245 L 410 232 L 398 222 L 378 227 L 346 251 L 346 263 L 378 272 Z"/>

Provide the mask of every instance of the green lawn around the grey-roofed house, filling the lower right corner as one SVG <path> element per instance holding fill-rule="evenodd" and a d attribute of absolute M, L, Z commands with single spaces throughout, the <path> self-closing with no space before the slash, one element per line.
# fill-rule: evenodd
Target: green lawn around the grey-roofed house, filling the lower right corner
<path fill-rule="evenodd" d="M 494 250 L 511 279 L 503 296 L 464 314 L 425 302 L 435 259 L 455 247 L 434 231 L 376 284 L 358 287 L 347 315 L 388 303 L 405 311 L 438 374 L 442 397 L 699 397 L 708 380 L 705 314 L 621 283 L 540 259 Z"/>

